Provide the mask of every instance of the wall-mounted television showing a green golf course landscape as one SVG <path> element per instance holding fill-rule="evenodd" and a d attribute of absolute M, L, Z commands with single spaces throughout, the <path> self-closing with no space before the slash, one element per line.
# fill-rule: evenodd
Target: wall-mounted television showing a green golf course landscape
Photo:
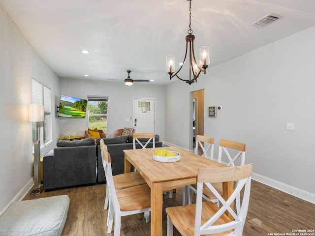
<path fill-rule="evenodd" d="M 85 118 L 87 102 L 86 99 L 61 95 L 58 117 Z"/>

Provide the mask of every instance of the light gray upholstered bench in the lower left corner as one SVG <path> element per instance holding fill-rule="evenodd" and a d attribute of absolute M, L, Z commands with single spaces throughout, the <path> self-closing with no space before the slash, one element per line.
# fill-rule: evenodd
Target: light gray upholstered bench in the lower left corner
<path fill-rule="evenodd" d="M 61 236 L 69 203 L 67 195 L 14 202 L 0 216 L 0 235 Z"/>

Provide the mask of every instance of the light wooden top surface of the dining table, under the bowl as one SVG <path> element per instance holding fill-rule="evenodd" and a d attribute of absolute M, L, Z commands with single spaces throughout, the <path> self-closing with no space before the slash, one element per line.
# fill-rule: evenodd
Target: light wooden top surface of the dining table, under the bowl
<path fill-rule="evenodd" d="M 153 159 L 153 153 L 157 149 L 177 151 L 181 154 L 181 159 L 177 162 L 167 163 L 155 161 Z M 129 149 L 124 150 L 124 152 L 128 161 L 133 166 L 138 167 L 137 170 L 140 172 L 141 176 L 144 177 L 147 182 L 153 183 L 197 177 L 198 168 L 202 167 L 226 167 L 216 161 L 209 160 L 177 147 Z"/>

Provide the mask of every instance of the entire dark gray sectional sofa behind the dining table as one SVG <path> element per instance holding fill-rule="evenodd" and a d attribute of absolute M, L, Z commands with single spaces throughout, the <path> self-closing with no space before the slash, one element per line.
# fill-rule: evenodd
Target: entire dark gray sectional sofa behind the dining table
<path fill-rule="evenodd" d="M 57 147 L 43 158 L 44 190 L 89 185 L 96 182 L 105 183 L 105 173 L 101 160 L 99 142 L 103 139 L 111 155 L 113 175 L 125 172 L 125 153 L 132 149 L 132 135 L 114 138 L 87 138 L 76 141 L 58 141 Z M 144 139 L 145 140 L 145 139 Z M 146 139 L 147 140 L 147 139 Z M 152 142 L 149 147 L 152 148 Z M 159 136 L 155 136 L 155 146 L 162 147 Z M 141 148 L 139 144 L 137 148 Z"/>

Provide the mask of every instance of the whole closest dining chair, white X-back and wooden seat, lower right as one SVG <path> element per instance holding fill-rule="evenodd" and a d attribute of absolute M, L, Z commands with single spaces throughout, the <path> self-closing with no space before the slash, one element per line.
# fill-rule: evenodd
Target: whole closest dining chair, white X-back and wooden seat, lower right
<path fill-rule="evenodd" d="M 251 178 L 252 164 L 198 169 L 196 204 L 165 209 L 167 236 L 173 236 L 174 227 L 182 236 L 242 236 L 250 200 Z M 212 183 L 226 181 L 236 181 L 236 186 L 225 201 Z M 221 207 L 203 200 L 204 188 L 213 192 Z M 235 209 L 231 207 L 234 202 Z M 226 211 L 230 217 L 225 214 Z"/>

